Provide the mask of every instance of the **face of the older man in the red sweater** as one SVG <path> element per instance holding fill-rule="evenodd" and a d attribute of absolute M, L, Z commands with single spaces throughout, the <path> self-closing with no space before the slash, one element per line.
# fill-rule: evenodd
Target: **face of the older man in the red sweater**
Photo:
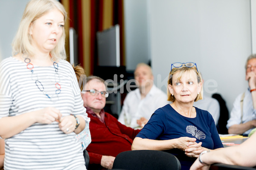
<path fill-rule="evenodd" d="M 90 80 L 84 87 L 83 91 L 87 90 L 97 90 L 97 91 L 106 91 L 106 86 L 104 83 L 99 82 L 97 79 Z M 99 113 L 105 107 L 106 98 L 103 97 L 100 93 L 97 96 L 90 94 L 90 91 L 81 94 L 82 99 L 84 100 L 84 106 L 91 108 L 95 113 Z"/>

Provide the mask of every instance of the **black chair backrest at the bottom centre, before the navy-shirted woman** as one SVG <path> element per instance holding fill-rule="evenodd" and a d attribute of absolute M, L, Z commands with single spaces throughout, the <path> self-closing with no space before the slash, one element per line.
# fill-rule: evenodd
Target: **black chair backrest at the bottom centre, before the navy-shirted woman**
<path fill-rule="evenodd" d="M 131 150 L 119 153 L 113 169 L 180 170 L 180 161 L 171 153 L 159 150 Z"/>

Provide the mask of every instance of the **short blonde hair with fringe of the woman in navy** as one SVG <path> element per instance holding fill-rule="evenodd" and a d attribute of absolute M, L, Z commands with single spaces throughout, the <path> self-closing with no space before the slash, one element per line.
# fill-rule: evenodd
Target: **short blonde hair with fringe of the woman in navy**
<path fill-rule="evenodd" d="M 187 71 L 195 71 L 195 73 L 197 75 L 198 83 L 202 82 L 201 74 L 198 72 L 198 70 L 195 66 L 186 67 L 185 65 L 182 65 L 181 67 L 178 67 L 178 68 L 172 68 L 172 70 L 170 71 L 170 74 L 169 74 L 168 85 L 172 85 L 172 77 L 175 73 L 178 73 L 177 79 L 180 79 L 182 77 L 182 75 Z M 175 96 L 172 96 L 172 94 L 169 91 L 169 88 L 167 88 L 167 97 L 168 97 L 168 99 L 167 99 L 168 101 L 171 101 L 171 102 L 175 101 Z M 200 93 L 195 98 L 195 102 L 198 100 L 201 100 L 201 99 L 203 99 L 203 85 L 202 85 Z"/>

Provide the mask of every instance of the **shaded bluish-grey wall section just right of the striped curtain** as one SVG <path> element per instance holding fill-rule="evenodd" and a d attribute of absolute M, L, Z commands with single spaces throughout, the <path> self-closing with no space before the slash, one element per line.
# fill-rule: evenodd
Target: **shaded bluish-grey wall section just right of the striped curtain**
<path fill-rule="evenodd" d="M 151 59 L 149 46 L 148 0 L 124 0 L 126 70 Z"/>

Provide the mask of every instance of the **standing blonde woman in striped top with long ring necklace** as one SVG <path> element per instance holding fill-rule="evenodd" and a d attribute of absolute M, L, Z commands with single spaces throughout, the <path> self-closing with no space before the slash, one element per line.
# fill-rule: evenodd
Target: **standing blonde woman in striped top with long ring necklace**
<path fill-rule="evenodd" d="M 86 170 L 76 134 L 89 131 L 75 72 L 67 62 L 57 0 L 30 0 L 0 63 L 0 138 L 5 170 Z"/>

